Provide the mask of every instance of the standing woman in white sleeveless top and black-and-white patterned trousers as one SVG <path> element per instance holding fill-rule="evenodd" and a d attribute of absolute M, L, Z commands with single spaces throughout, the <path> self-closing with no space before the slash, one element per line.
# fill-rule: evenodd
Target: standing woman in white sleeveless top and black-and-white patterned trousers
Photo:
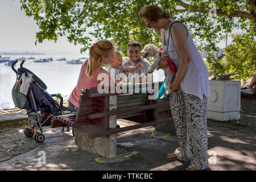
<path fill-rule="evenodd" d="M 139 17 L 148 28 L 160 31 L 162 46 L 177 67 L 171 84 L 170 107 L 179 139 L 179 147 L 166 159 L 191 161 L 186 168 L 199 171 L 208 168 L 207 98 L 209 98 L 208 70 L 197 51 L 190 32 L 183 23 L 170 19 L 169 13 L 156 5 L 144 6 Z M 159 68 L 167 68 L 162 60 Z"/>

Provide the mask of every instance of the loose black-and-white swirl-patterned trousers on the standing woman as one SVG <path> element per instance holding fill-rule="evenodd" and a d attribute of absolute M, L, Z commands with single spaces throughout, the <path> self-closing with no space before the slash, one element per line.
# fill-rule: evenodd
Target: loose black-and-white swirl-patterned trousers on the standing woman
<path fill-rule="evenodd" d="M 170 106 L 179 147 L 174 155 L 192 166 L 208 167 L 207 97 L 203 100 L 181 89 L 171 94 Z"/>

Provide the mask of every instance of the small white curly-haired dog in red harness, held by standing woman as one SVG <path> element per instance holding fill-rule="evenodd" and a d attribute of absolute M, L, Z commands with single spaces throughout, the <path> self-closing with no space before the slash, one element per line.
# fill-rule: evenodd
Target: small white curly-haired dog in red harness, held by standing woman
<path fill-rule="evenodd" d="M 147 71 L 147 73 L 152 73 L 159 69 L 159 62 L 162 60 L 163 57 L 169 57 L 168 53 L 165 52 L 162 48 L 156 47 L 154 44 L 147 44 L 144 46 L 144 49 L 141 51 L 143 58 L 146 57 L 154 57 L 154 63 L 152 63 L 150 69 Z M 167 59 L 169 61 L 169 67 L 164 68 L 164 75 L 166 76 L 166 82 L 164 82 L 164 89 L 166 89 L 166 93 L 163 94 L 161 99 L 166 98 L 169 94 L 171 94 L 171 84 L 174 80 L 175 73 L 176 73 L 176 67 L 174 63 L 172 63 L 171 59 Z"/>

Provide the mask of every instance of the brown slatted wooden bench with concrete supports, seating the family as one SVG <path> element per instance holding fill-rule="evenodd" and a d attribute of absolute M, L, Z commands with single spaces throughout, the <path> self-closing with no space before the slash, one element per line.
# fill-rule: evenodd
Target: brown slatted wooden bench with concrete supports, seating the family
<path fill-rule="evenodd" d="M 116 135 L 124 131 L 172 122 L 170 103 L 148 100 L 157 93 L 162 82 L 130 85 L 125 93 L 98 93 L 97 88 L 82 89 L 76 114 L 52 118 L 51 127 L 68 125 L 74 128 L 77 145 L 81 150 L 107 158 L 116 156 Z M 159 117 L 160 114 L 160 117 Z M 138 125 L 116 128 L 117 119 L 126 119 Z"/>

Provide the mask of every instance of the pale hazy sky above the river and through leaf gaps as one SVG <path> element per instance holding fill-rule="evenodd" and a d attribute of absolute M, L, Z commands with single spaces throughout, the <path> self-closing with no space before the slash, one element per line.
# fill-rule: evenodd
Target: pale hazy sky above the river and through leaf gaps
<path fill-rule="evenodd" d="M 73 45 L 67 37 L 59 37 L 57 42 L 44 40 L 35 46 L 39 28 L 32 17 L 20 10 L 19 0 L 0 0 L 0 52 L 42 52 L 47 54 L 80 54 L 81 45 Z M 237 32 L 235 30 L 234 32 Z M 228 44 L 231 42 L 228 38 Z M 94 39 L 96 41 L 96 39 Z M 224 48 L 226 40 L 218 44 Z"/>

